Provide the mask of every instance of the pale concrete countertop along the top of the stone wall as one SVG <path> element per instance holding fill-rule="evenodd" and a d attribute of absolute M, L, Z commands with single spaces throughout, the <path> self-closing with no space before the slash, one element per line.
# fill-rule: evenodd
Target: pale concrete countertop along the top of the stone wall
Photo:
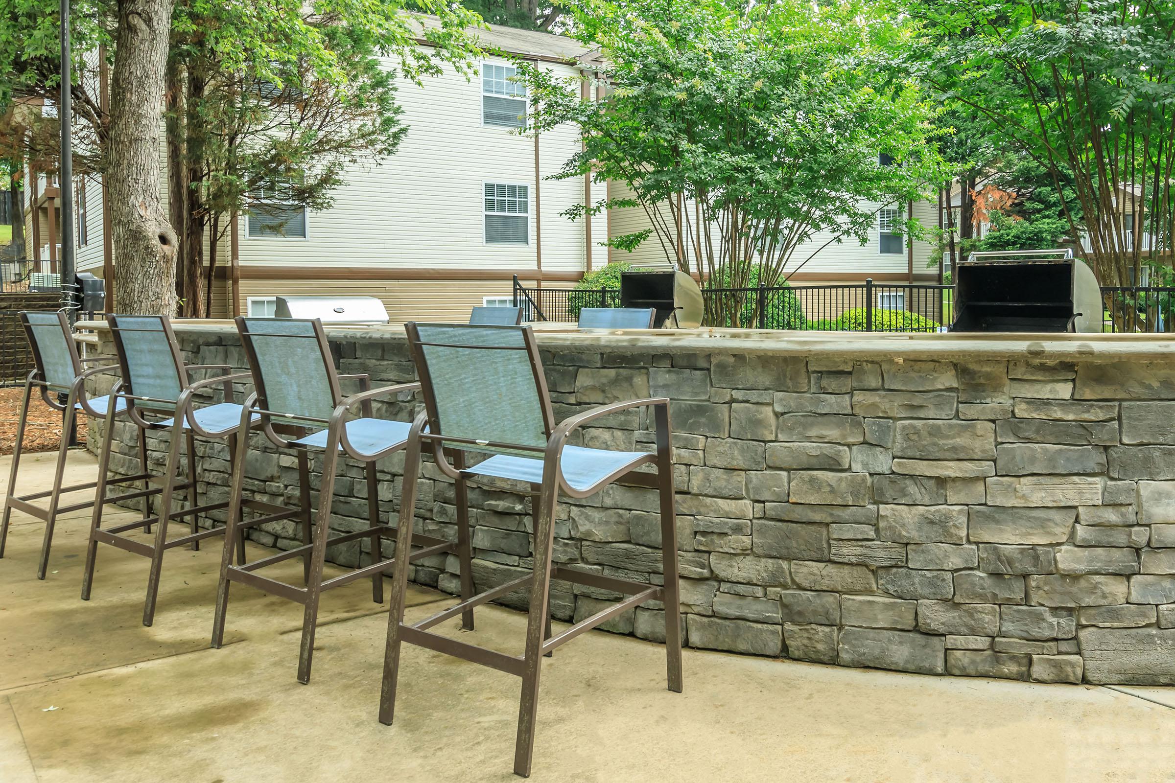
<path fill-rule="evenodd" d="M 235 335 L 231 320 L 176 319 L 176 333 Z M 105 320 L 85 320 L 81 330 L 105 331 Z M 992 335 L 810 332 L 754 329 L 579 330 L 569 324 L 533 324 L 543 347 L 640 351 L 654 353 L 770 353 L 844 359 L 1048 359 L 1102 362 L 1173 362 L 1175 339 L 1168 335 Z M 401 324 L 327 326 L 334 339 L 404 339 Z"/>

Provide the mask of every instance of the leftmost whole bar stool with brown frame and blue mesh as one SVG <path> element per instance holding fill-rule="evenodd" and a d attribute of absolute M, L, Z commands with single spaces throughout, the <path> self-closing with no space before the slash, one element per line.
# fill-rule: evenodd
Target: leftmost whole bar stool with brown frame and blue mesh
<path fill-rule="evenodd" d="M 94 417 L 105 417 L 110 401 L 109 397 L 95 397 L 92 399 L 86 393 L 86 382 L 100 373 L 116 373 L 119 367 L 116 364 L 109 364 L 115 360 L 113 356 L 89 356 L 85 358 L 79 356 L 78 344 L 74 342 L 73 332 L 69 329 L 69 322 L 66 319 L 65 312 L 21 312 L 20 323 L 25 328 L 25 335 L 28 337 L 28 343 L 33 349 L 33 364 L 35 369 L 28 373 L 28 378 L 25 380 L 25 394 L 21 398 L 20 419 L 16 424 L 16 444 L 12 452 L 12 472 L 8 478 L 8 495 L 4 502 L 4 521 L 0 522 L 0 558 L 4 556 L 5 541 L 8 538 L 8 521 L 12 517 L 12 509 L 16 508 L 18 511 L 32 514 L 45 521 L 41 560 L 36 567 L 36 578 L 45 579 L 49 563 L 49 547 L 53 544 L 53 527 L 58 514 L 89 508 L 95 502 L 94 499 L 90 499 L 70 502 L 65 506 L 61 505 L 62 494 L 81 490 L 93 490 L 98 486 L 96 481 L 74 484 L 72 486 L 61 485 L 66 470 L 66 454 L 69 450 L 69 432 L 76 423 L 78 411 Z M 98 362 L 106 362 L 108 364 L 88 370 L 82 369 L 86 364 Z M 20 495 L 16 493 L 16 472 L 20 466 L 20 454 L 24 451 L 25 426 L 28 420 L 28 410 L 34 386 L 40 389 L 41 400 L 46 405 L 54 411 L 63 413 L 61 445 L 58 447 L 58 464 L 53 474 L 53 487 L 48 491 Z M 60 399 L 53 399 L 53 396 L 60 394 L 66 396 L 65 403 L 60 401 Z M 125 411 L 126 403 L 119 400 L 114 416 L 122 416 Z M 133 481 L 145 481 L 149 478 L 147 473 L 147 441 L 142 438 L 139 440 L 139 465 L 140 473 L 119 479 L 112 484 L 130 484 Z M 160 488 L 152 488 L 145 482 L 142 491 L 122 494 L 118 500 L 142 498 L 156 494 L 160 491 Z M 49 499 L 47 508 L 32 502 L 46 497 Z"/>

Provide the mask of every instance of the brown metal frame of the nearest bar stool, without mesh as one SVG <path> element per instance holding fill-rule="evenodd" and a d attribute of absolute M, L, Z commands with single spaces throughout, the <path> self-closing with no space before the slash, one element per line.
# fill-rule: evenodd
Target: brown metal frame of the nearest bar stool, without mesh
<path fill-rule="evenodd" d="M 408 589 L 408 563 L 397 562 L 392 573 L 391 585 L 391 612 L 388 619 L 388 642 L 384 654 L 383 682 L 380 697 L 380 722 L 391 725 L 396 707 L 396 686 L 400 673 L 400 652 L 402 642 L 410 642 L 419 647 L 454 655 L 474 663 L 505 671 L 522 677 L 522 698 L 518 708 L 518 730 L 515 743 L 513 771 L 522 777 L 530 776 L 531 760 L 535 748 L 535 724 L 538 715 L 538 684 L 539 684 L 539 661 L 543 656 L 550 656 L 552 652 L 562 644 L 571 641 L 576 636 L 599 626 L 612 617 L 616 617 L 629 609 L 632 609 L 646 601 L 662 601 L 665 605 L 665 648 L 666 648 L 666 671 L 669 690 L 682 693 L 682 633 L 680 633 L 680 605 L 678 598 L 678 567 L 677 567 L 677 524 L 673 507 L 673 451 L 670 445 L 670 413 L 667 398 L 649 398 L 626 400 L 592 409 L 584 413 L 573 416 L 564 420 L 558 426 L 553 426 L 553 413 L 551 411 L 550 396 L 546 389 L 546 380 L 538 355 L 535 337 L 528 328 L 524 331 L 525 349 L 494 349 L 494 350 L 526 350 L 531 360 L 531 369 L 535 374 L 535 383 L 539 391 L 539 397 L 544 403 L 544 425 L 549 433 L 545 448 L 510 443 L 490 443 L 482 440 L 469 440 L 462 438 L 445 438 L 441 432 L 439 421 L 436 418 L 436 398 L 432 393 L 432 385 L 429 378 L 428 365 L 423 360 L 422 345 L 441 345 L 437 343 L 422 343 L 416 330 L 416 324 L 405 324 L 408 343 L 416 362 L 417 376 L 421 379 L 421 387 L 425 401 L 425 411 L 421 413 L 412 424 L 408 437 L 407 458 L 404 460 L 403 497 L 400 504 L 400 531 L 401 534 L 410 535 L 415 519 L 416 481 L 421 470 L 421 454 L 424 448 L 423 443 L 428 441 L 432 450 L 432 457 L 442 473 L 454 479 L 456 482 L 457 513 L 468 514 L 468 497 L 465 485 L 469 477 L 464 472 L 463 463 L 458 458 L 450 464 L 448 455 L 455 452 L 445 448 L 448 444 L 476 445 L 484 450 L 508 450 L 524 451 L 542 455 L 543 480 L 539 485 L 530 485 L 530 492 L 535 505 L 532 514 L 535 519 L 533 538 L 533 561 L 535 569 L 531 575 L 499 585 L 492 589 L 466 598 L 462 595 L 461 602 L 438 612 L 424 620 L 411 625 L 404 622 L 404 599 Z M 656 424 L 656 453 L 649 454 L 647 459 L 632 463 L 624 468 L 600 479 L 595 485 L 585 490 L 573 490 L 565 481 L 559 461 L 563 447 L 568 438 L 584 425 L 619 411 L 639 407 L 649 407 L 652 411 Z M 642 465 L 653 465 L 656 474 L 633 472 Z M 620 478 L 626 484 L 656 487 L 660 494 L 660 522 L 662 522 L 662 558 L 664 586 L 649 585 L 627 579 L 617 579 L 602 574 L 593 574 L 562 566 L 552 566 L 551 552 L 555 541 L 555 512 L 559 493 L 566 493 L 572 498 L 586 498 L 599 492 L 609 484 Z M 501 488 L 501 487 L 495 487 Z M 550 587 L 551 580 L 568 581 L 577 585 L 586 585 L 604 590 L 620 593 L 629 598 L 613 603 L 612 606 L 597 612 L 590 617 L 551 635 L 550 619 Z M 448 636 L 431 633 L 429 628 L 437 626 L 457 614 L 469 617 L 466 628 L 472 627 L 472 610 L 496 598 L 511 593 L 519 587 L 530 583 L 530 607 L 528 609 L 525 648 L 522 656 L 508 655 L 497 650 L 486 649 L 476 644 L 458 641 Z M 464 585 L 464 581 L 463 581 Z M 470 590 L 471 593 L 472 590 Z"/>

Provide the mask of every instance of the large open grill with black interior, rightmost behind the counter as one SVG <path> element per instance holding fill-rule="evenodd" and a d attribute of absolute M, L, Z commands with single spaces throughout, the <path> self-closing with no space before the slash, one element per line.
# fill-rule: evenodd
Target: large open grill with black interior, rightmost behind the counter
<path fill-rule="evenodd" d="M 973 252 L 955 269 L 953 332 L 1096 332 L 1101 289 L 1072 250 Z"/>

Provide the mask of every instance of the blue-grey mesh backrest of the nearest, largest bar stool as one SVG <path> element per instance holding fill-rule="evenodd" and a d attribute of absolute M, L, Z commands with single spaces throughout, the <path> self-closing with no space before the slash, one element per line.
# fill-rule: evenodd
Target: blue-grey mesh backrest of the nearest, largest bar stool
<path fill-rule="evenodd" d="M 530 457 L 535 452 L 489 444 L 546 446 L 553 416 L 530 326 L 409 323 L 405 329 L 429 430 L 444 436 L 446 446 Z"/>

